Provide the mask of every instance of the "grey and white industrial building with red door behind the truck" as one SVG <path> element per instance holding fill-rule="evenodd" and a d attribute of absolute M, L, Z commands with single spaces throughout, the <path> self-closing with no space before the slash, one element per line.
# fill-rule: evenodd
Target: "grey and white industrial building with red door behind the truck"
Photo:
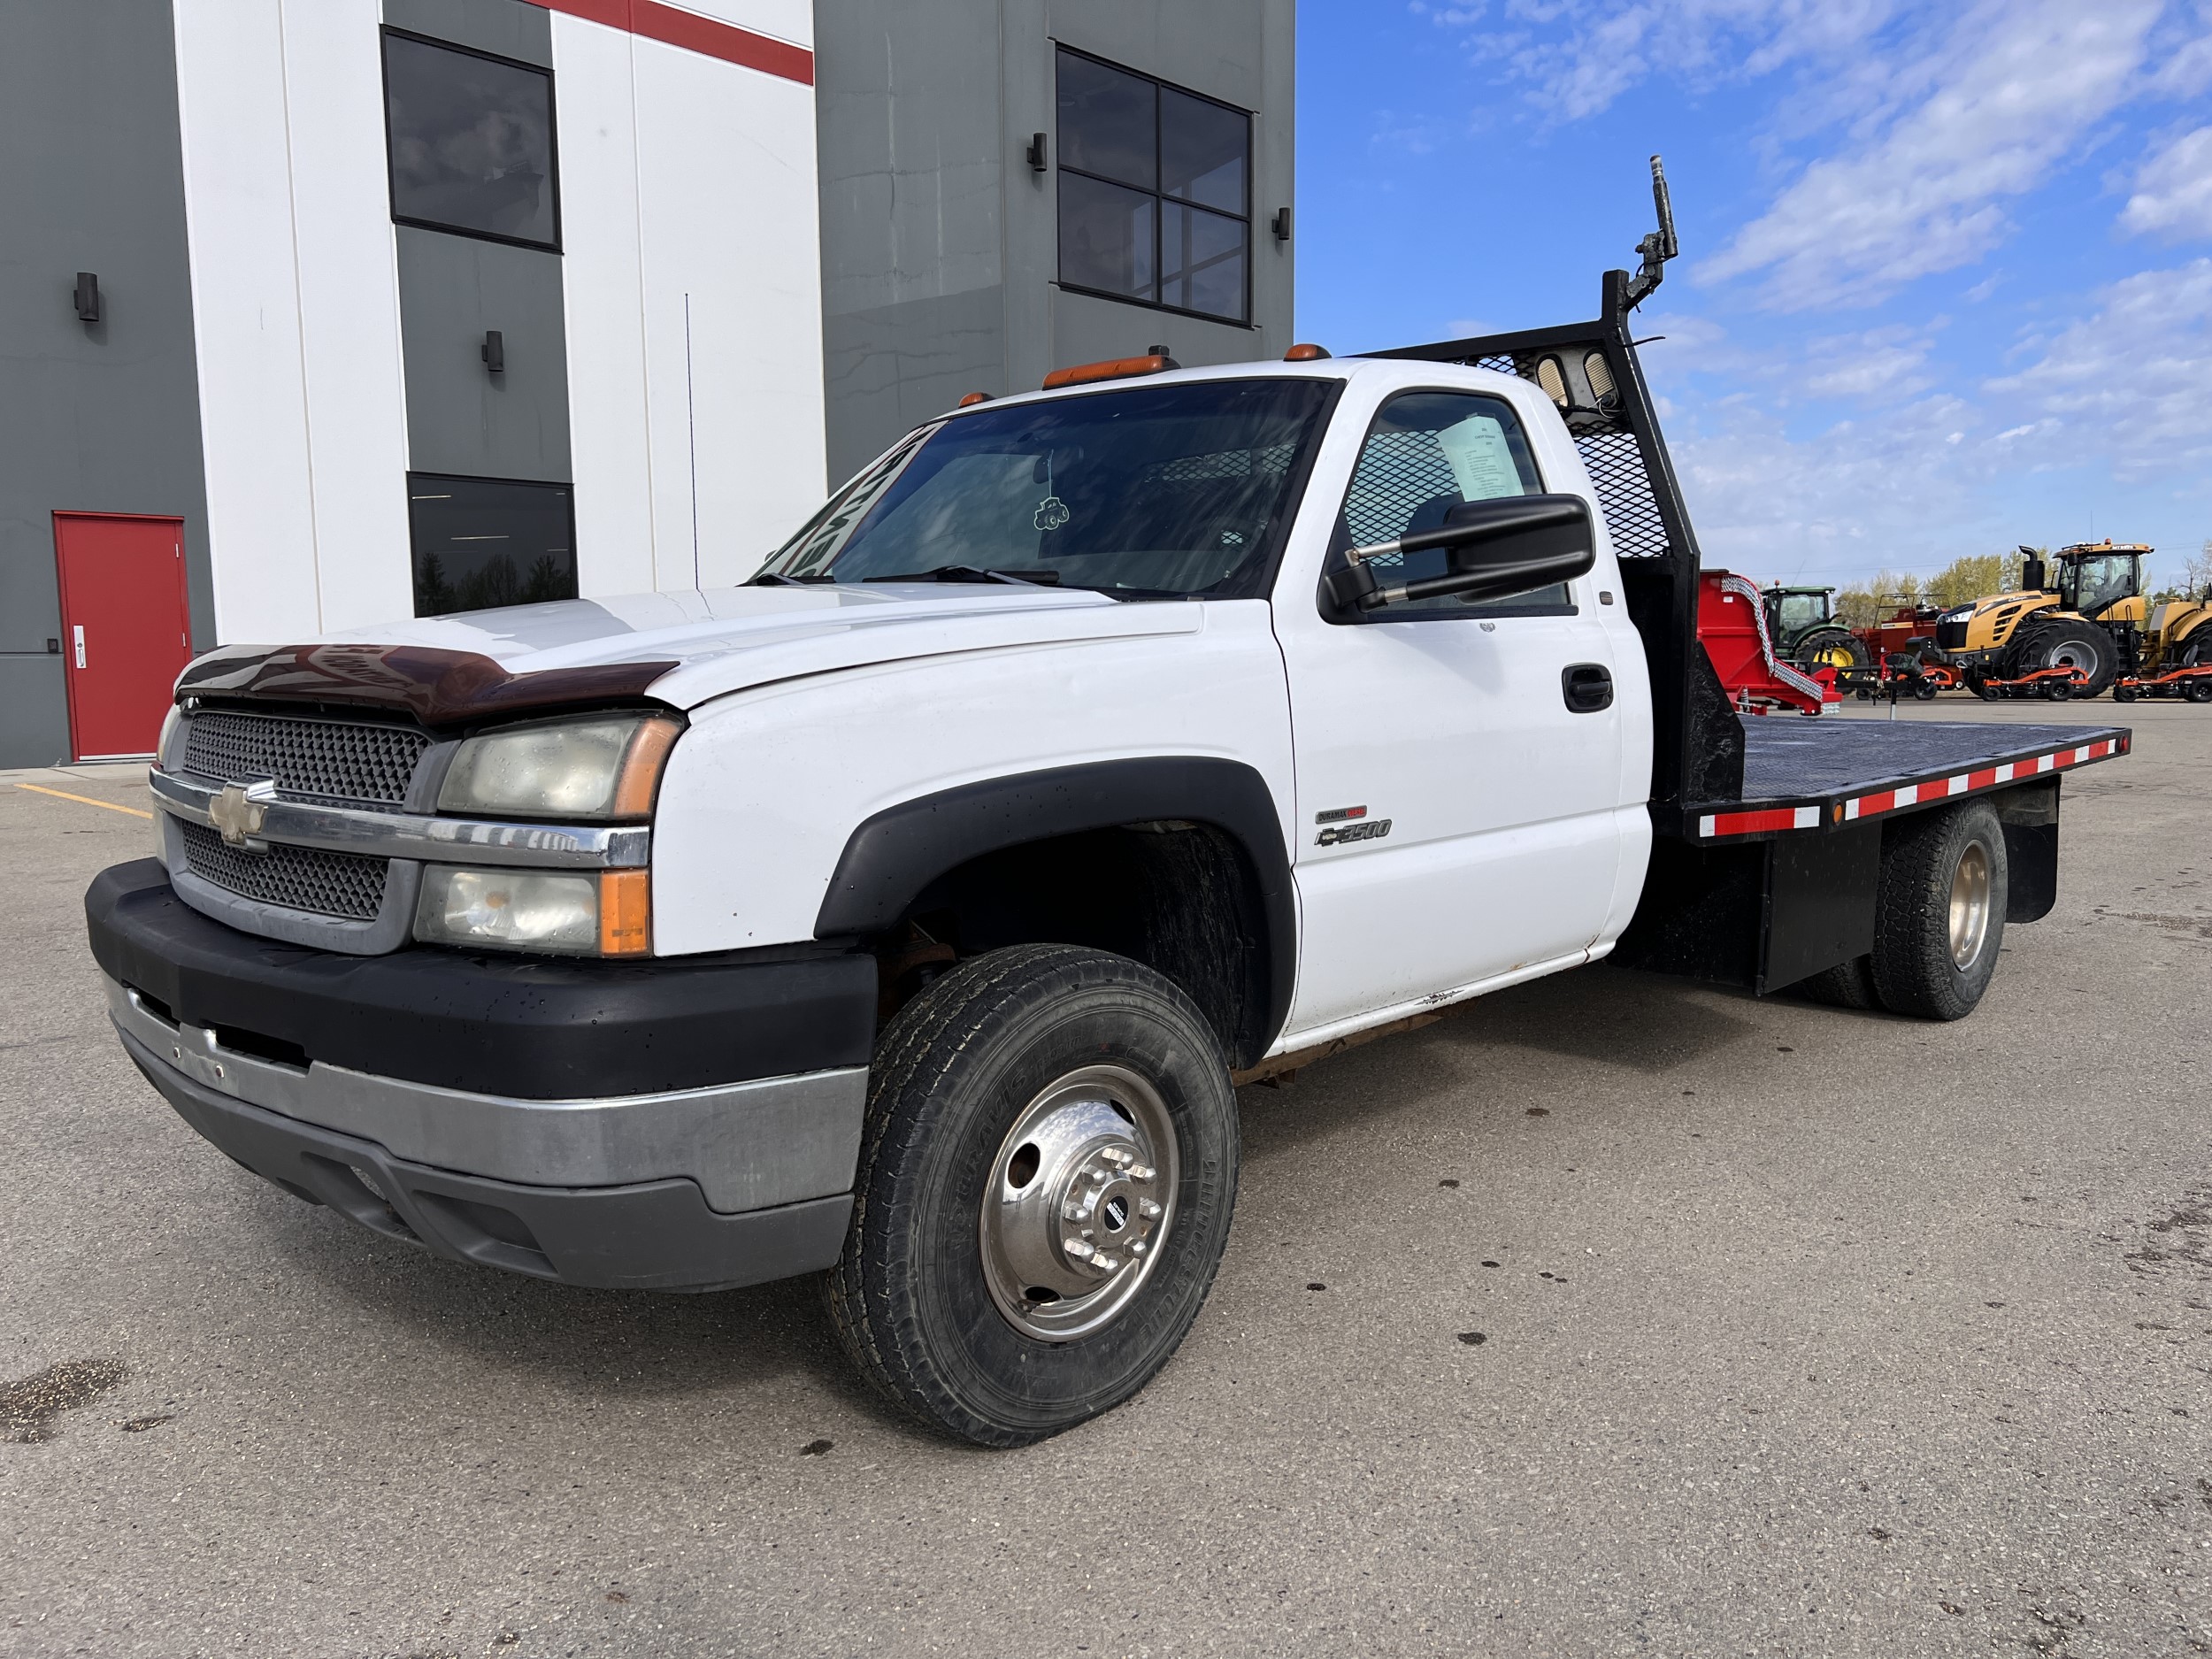
<path fill-rule="evenodd" d="M 1292 0 L 0 9 L 0 765 L 217 644 L 743 580 L 967 392 L 1292 316 Z"/>

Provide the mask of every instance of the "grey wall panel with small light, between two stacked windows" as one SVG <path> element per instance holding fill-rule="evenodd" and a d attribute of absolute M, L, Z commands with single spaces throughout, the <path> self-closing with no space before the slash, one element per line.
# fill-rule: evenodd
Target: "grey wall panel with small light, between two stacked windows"
<path fill-rule="evenodd" d="M 560 254 L 398 226 L 407 465 L 571 482 Z M 504 374 L 484 367 L 500 330 Z"/>

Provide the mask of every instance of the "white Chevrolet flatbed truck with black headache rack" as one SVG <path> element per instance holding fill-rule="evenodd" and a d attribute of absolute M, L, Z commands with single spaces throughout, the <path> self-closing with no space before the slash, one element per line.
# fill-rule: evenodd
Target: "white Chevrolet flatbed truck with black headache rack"
<path fill-rule="evenodd" d="M 1604 956 L 1951 1020 L 2119 728 L 1728 706 L 1630 343 L 1091 365 L 962 407 L 750 584 L 186 670 L 86 896 L 206 1139 L 573 1285 L 825 1272 L 900 1409 L 1135 1394 L 1234 1079 Z"/>

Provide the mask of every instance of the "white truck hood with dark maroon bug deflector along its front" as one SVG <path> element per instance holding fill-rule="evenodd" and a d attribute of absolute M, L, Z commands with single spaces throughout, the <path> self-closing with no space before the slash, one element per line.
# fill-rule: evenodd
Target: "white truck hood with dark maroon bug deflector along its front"
<path fill-rule="evenodd" d="M 1082 588 L 703 588 L 418 617 L 294 646 L 230 646 L 192 664 L 179 690 L 405 703 L 431 719 L 465 717 L 471 703 L 491 712 L 580 701 L 588 688 L 697 708 L 841 668 L 1203 626 L 1201 604 L 1119 602 Z M 533 686 L 546 695 L 535 697 Z"/>

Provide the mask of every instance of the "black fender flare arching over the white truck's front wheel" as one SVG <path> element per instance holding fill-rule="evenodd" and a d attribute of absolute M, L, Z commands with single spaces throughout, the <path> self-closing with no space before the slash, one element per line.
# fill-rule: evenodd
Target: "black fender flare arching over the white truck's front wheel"
<path fill-rule="evenodd" d="M 980 779 L 900 801 L 863 821 L 845 841 L 814 918 L 814 938 L 880 933 L 907 914 L 929 883 L 969 858 L 1026 841 L 1164 818 L 1214 825 L 1252 860 L 1267 922 L 1265 1051 L 1290 1018 L 1298 975 L 1298 907 L 1274 792 L 1243 761 L 1208 754 L 1093 761 Z"/>

